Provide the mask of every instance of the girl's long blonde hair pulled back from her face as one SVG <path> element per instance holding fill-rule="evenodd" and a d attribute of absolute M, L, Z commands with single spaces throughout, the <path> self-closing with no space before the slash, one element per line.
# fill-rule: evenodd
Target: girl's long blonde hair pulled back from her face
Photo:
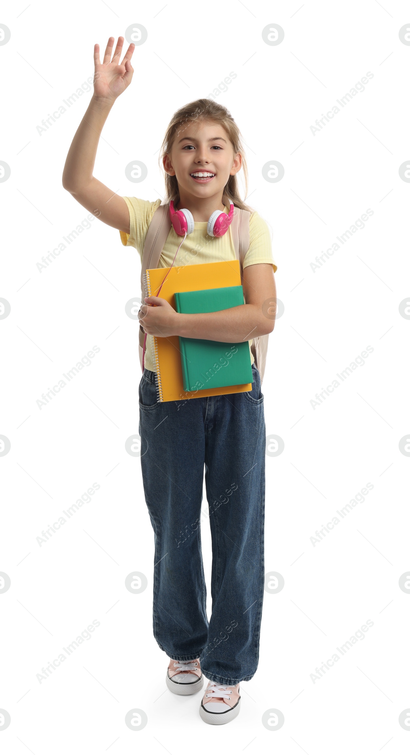
<path fill-rule="evenodd" d="M 200 99 L 194 102 L 188 103 L 180 107 L 179 110 L 174 112 L 170 124 L 168 125 L 164 141 L 161 145 L 159 164 L 160 168 L 163 168 L 163 159 L 165 155 L 170 154 L 170 150 L 173 146 L 173 142 L 177 136 L 186 128 L 188 124 L 194 122 L 213 121 L 219 123 L 225 128 L 231 144 L 234 148 L 234 154 L 240 153 L 242 157 L 243 179 L 245 184 L 245 194 L 248 193 L 248 170 L 246 166 L 246 157 L 242 144 L 242 137 L 231 116 L 231 113 L 226 109 L 224 105 L 220 105 L 213 100 Z M 175 204 L 179 200 L 179 187 L 176 176 L 170 176 L 167 173 L 164 174 L 165 179 L 165 202 L 168 203 L 173 199 Z M 239 187 L 237 182 L 237 176 L 229 176 L 228 183 L 226 183 L 223 193 L 224 199 L 227 200 L 240 210 L 249 210 L 252 212 L 252 208 L 240 199 Z"/>

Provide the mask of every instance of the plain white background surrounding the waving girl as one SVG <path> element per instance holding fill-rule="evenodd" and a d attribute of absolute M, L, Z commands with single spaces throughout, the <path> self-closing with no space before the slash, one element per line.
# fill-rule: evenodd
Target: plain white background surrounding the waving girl
<path fill-rule="evenodd" d="M 246 7 L 247 6 L 247 7 Z M 399 726 L 408 697 L 409 568 L 408 59 L 399 29 L 407 2 L 6 2 L 0 23 L 3 125 L 0 159 L 2 419 L 11 442 L 2 467 L 0 731 L 7 753 L 171 755 L 201 749 L 268 753 L 406 753 Z M 37 126 L 93 75 L 93 45 L 133 23 L 148 39 L 133 54 L 133 82 L 102 131 L 94 175 L 113 191 L 151 201 L 163 193 L 158 149 L 173 112 L 237 78 L 216 99 L 246 142 L 249 204 L 269 223 L 277 296 L 285 311 L 269 340 L 262 387 L 269 434 L 284 451 L 266 457 L 266 570 L 259 668 L 243 683 L 228 726 L 200 720 L 200 695 L 165 687 L 167 658 L 152 636 L 154 538 L 139 458 L 140 263 L 117 230 L 94 220 L 46 270 L 36 263 L 87 211 L 63 190 L 66 153 L 90 102 L 84 93 L 38 134 Z M 262 29 L 283 27 L 280 45 Z M 408 23 L 410 26 L 410 23 Z M 373 79 L 319 133 L 311 125 L 360 82 Z M 143 183 L 124 169 L 144 162 Z M 262 177 L 271 160 L 280 182 Z M 367 208 L 366 227 L 313 272 L 310 263 Z M 45 407 L 47 393 L 93 345 L 100 351 Z M 326 400 L 311 399 L 367 346 L 374 351 Z M 91 501 L 41 547 L 41 530 L 96 482 Z M 315 546 L 311 536 L 366 483 L 374 485 Z M 204 496 L 204 506 L 207 507 Z M 210 534 L 203 527 L 210 584 Z M 133 595 L 133 570 L 148 579 Z M 100 622 L 47 680 L 36 674 L 93 619 Z M 315 682 L 315 668 L 356 630 L 374 624 Z M 339 654 L 340 655 L 340 654 Z M 164 694 L 163 694 L 164 693 Z M 125 726 L 135 706 L 148 723 Z M 278 709 L 277 731 L 262 725 Z"/>

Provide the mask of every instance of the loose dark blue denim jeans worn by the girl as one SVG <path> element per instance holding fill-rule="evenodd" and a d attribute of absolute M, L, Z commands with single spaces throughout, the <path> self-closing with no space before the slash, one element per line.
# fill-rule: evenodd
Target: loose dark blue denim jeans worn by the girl
<path fill-rule="evenodd" d="M 200 658 L 207 679 L 252 679 L 264 594 L 265 416 L 252 390 L 157 402 L 156 375 L 139 383 L 145 501 L 155 536 L 153 627 L 175 661 Z M 212 538 L 212 615 L 200 547 L 203 468 Z M 205 517 L 208 519 L 208 516 Z"/>

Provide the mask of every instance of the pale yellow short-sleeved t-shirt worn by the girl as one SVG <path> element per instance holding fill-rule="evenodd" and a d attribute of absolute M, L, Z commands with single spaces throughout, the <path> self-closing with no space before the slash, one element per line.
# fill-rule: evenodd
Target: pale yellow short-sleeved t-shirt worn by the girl
<path fill-rule="evenodd" d="M 148 202 L 145 199 L 136 199 L 135 196 L 124 196 L 130 211 L 130 233 L 120 231 L 121 242 L 124 246 L 133 246 L 139 251 L 142 263 L 145 237 L 149 223 L 155 210 L 161 205 L 161 199 L 156 202 Z M 225 212 L 229 208 L 225 207 Z M 176 250 L 181 243 L 182 237 L 177 236 L 171 227 L 167 241 L 161 253 L 158 267 L 171 267 Z M 174 265 L 194 265 L 206 262 L 225 262 L 236 260 L 234 242 L 232 241 L 231 228 L 224 236 L 208 236 L 207 223 L 194 223 L 194 231 L 190 233 L 176 255 Z M 243 267 L 258 263 L 271 263 L 274 273 L 277 264 L 272 256 L 271 233 L 265 220 L 257 212 L 252 212 L 249 220 L 249 249 L 243 260 Z M 250 349 L 252 340 L 249 341 L 250 361 L 255 361 Z M 147 334 L 145 342 L 144 366 L 153 372 L 157 371 L 155 365 L 154 336 Z"/>

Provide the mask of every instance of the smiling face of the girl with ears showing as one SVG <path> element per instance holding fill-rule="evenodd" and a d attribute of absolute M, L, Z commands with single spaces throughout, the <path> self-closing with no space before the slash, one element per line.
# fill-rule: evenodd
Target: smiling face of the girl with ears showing
<path fill-rule="evenodd" d="M 240 153 L 234 153 L 225 128 L 216 122 L 188 123 L 164 156 L 164 170 L 176 176 L 180 196 L 219 196 L 219 202 L 229 176 L 236 174 L 241 165 Z"/>

